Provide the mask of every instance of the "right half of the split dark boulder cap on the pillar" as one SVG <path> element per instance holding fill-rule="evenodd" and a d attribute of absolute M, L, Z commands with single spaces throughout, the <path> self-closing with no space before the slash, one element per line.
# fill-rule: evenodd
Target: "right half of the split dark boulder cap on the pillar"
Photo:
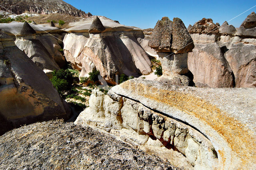
<path fill-rule="evenodd" d="M 175 54 L 192 52 L 194 42 L 180 18 L 173 18 L 172 24 L 172 52 Z"/>

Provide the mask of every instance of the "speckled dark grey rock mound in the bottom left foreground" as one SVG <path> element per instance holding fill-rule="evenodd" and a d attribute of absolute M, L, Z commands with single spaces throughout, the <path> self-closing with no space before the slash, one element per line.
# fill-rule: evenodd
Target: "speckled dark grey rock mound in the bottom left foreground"
<path fill-rule="evenodd" d="M 0 169 L 8 168 L 177 170 L 104 133 L 60 120 L 23 126 L 0 136 Z"/>

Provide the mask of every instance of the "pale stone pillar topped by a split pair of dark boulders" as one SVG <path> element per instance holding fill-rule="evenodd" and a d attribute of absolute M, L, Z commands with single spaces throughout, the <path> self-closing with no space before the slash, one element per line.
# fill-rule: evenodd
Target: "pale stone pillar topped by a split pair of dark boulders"
<path fill-rule="evenodd" d="M 158 20 L 148 46 L 156 50 L 162 64 L 161 82 L 188 86 L 190 78 L 184 76 L 188 70 L 188 52 L 194 48 L 193 40 L 180 18 L 168 17 Z"/>

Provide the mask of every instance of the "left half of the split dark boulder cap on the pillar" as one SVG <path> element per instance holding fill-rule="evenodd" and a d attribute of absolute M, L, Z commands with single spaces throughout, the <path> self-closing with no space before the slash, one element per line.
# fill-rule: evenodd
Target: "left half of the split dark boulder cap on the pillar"
<path fill-rule="evenodd" d="M 148 46 L 158 52 L 170 52 L 172 45 L 172 21 L 168 17 L 158 20 Z"/>

